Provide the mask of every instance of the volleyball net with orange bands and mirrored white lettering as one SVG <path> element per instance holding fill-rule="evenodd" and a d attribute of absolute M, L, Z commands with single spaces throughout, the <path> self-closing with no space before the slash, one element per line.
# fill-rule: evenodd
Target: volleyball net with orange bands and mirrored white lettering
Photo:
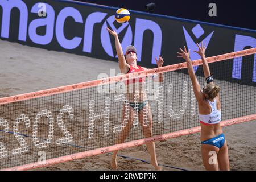
<path fill-rule="evenodd" d="M 256 48 L 208 57 L 222 126 L 256 119 Z M 201 60 L 192 61 L 201 88 Z M 0 169 L 26 170 L 200 131 L 186 63 L 0 98 Z M 185 142 L 185 141 L 184 141 Z"/>

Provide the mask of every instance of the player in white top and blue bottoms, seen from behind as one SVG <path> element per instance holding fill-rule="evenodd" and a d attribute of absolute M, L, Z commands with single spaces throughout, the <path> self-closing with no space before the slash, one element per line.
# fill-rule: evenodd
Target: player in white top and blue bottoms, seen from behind
<path fill-rule="evenodd" d="M 210 75 L 209 65 L 205 58 L 205 44 L 201 47 L 197 44 L 199 51 L 194 51 L 201 56 L 203 62 L 204 77 L 207 85 L 201 90 L 197 81 L 189 51 L 186 47 L 180 49 L 178 57 L 183 57 L 187 62 L 188 73 L 192 81 L 193 90 L 199 105 L 199 120 L 201 125 L 201 152 L 206 170 L 229 170 L 228 147 L 223 134 L 221 122 L 220 87 L 213 82 Z"/>

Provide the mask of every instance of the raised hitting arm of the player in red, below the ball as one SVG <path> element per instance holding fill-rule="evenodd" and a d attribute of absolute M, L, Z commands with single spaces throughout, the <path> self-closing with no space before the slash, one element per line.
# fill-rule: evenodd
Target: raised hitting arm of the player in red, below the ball
<path fill-rule="evenodd" d="M 119 41 L 117 32 L 112 31 L 109 28 L 106 28 L 106 29 L 115 38 L 115 49 L 117 50 L 119 68 L 120 68 L 122 73 L 127 73 L 129 68 L 130 68 L 130 66 L 129 66 L 129 64 L 126 63 L 125 56 L 123 55 L 122 46 L 121 46 L 121 43 Z"/>

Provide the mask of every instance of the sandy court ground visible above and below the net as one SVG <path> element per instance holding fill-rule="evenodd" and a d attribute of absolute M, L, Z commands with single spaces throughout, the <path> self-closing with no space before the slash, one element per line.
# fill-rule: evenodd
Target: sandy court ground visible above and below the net
<path fill-rule="evenodd" d="M 2 40 L 0 50 L 0 97 L 96 80 L 100 73 L 110 76 L 110 69 L 113 68 L 115 75 L 119 73 L 118 63 L 113 61 L 47 51 Z M 224 127 L 224 133 L 229 147 L 230 169 L 255 170 L 255 121 Z M 159 164 L 189 170 L 204 170 L 200 150 L 200 134 L 156 142 Z M 126 148 L 119 154 L 150 160 L 146 146 Z M 36 170 L 110 170 L 109 162 L 110 155 L 101 154 Z M 121 157 L 118 157 L 118 166 L 121 170 L 154 169 L 150 164 Z M 163 169 L 174 170 L 169 167 Z"/>

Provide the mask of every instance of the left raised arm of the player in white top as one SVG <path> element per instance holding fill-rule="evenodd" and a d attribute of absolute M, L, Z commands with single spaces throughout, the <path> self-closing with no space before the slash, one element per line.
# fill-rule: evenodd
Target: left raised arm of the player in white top
<path fill-rule="evenodd" d="M 191 63 L 191 59 L 190 59 L 190 51 L 187 52 L 186 47 L 184 46 L 184 51 L 183 49 L 180 49 L 180 52 L 177 52 L 179 55 L 178 57 L 182 57 L 183 59 L 185 59 L 186 63 L 187 63 L 187 67 L 188 67 L 188 74 L 189 77 L 191 78 L 191 82 L 193 85 L 193 90 L 195 93 L 195 97 L 197 102 L 203 102 L 204 101 L 204 94 L 201 93 L 201 87 L 199 82 L 196 79 L 196 74 L 194 72 L 192 63 Z"/>

